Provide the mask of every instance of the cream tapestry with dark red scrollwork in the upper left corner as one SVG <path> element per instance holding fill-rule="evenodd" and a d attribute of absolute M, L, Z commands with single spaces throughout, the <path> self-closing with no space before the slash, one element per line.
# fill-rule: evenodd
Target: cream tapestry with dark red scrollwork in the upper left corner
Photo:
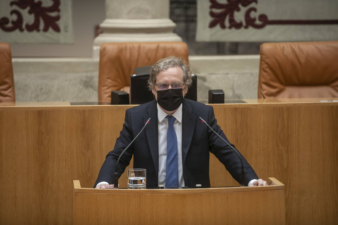
<path fill-rule="evenodd" d="M 1 0 L 0 41 L 73 43 L 72 0 Z"/>

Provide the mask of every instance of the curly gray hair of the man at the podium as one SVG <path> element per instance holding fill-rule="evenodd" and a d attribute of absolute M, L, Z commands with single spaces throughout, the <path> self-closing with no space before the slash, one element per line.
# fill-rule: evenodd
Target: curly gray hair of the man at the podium
<path fill-rule="evenodd" d="M 160 59 L 157 61 L 150 69 L 150 75 L 148 80 L 149 90 L 155 86 L 156 76 L 161 71 L 166 71 L 169 67 L 181 67 L 183 71 L 183 80 L 184 84 L 191 85 L 192 84 L 192 70 L 190 66 L 186 63 L 186 61 L 178 56 L 169 56 L 167 58 Z M 188 86 L 188 87 L 189 87 Z"/>

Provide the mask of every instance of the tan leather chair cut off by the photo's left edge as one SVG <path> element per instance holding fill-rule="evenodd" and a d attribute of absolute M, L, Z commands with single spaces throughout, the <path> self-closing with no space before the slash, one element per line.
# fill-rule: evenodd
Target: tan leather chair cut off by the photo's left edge
<path fill-rule="evenodd" d="M 15 102 L 13 66 L 10 47 L 0 42 L 0 102 Z"/>

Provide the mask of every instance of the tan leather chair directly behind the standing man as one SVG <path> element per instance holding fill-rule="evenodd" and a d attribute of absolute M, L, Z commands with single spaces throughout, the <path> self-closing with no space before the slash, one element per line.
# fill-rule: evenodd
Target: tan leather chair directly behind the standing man
<path fill-rule="evenodd" d="M 111 91 L 129 93 L 130 75 L 134 69 L 156 63 L 168 56 L 188 61 L 188 47 L 184 42 L 126 42 L 104 43 L 100 46 L 98 98 L 110 101 Z"/>

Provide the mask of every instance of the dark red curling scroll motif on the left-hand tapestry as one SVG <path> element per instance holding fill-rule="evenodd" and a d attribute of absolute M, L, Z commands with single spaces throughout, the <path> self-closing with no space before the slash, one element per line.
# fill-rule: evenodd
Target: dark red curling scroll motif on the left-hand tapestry
<path fill-rule="evenodd" d="M 56 24 L 57 21 L 60 20 L 60 16 L 50 16 L 48 13 L 50 12 L 60 12 L 60 0 L 52 0 L 53 4 L 49 7 L 43 7 L 41 1 L 35 2 L 34 0 L 17 0 L 11 1 L 10 6 L 16 5 L 21 9 L 28 9 L 29 14 L 33 14 L 34 21 L 32 24 L 26 23 L 25 28 L 27 31 L 40 31 L 40 18 L 44 23 L 44 27 L 42 31 L 47 32 L 49 28 L 52 28 L 56 32 L 60 32 L 59 26 Z M 14 31 L 19 29 L 20 31 L 24 31 L 23 29 L 23 17 L 18 10 L 10 11 L 10 15 L 16 15 L 16 20 L 11 21 L 11 26 L 9 25 L 9 19 L 3 17 L 0 19 L 0 28 L 4 31 Z"/>

